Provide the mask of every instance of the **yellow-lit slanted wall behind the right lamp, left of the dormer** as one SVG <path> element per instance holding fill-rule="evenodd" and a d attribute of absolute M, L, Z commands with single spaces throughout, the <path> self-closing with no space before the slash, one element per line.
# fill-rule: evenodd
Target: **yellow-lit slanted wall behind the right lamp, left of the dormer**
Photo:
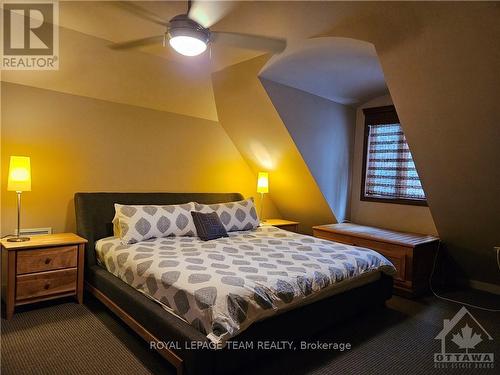
<path fill-rule="evenodd" d="M 332 210 L 281 121 L 257 75 L 269 56 L 212 75 L 221 125 L 254 172 L 270 174 L 270 197 L 283 218 L 300 230 L 335 222 Z"/>

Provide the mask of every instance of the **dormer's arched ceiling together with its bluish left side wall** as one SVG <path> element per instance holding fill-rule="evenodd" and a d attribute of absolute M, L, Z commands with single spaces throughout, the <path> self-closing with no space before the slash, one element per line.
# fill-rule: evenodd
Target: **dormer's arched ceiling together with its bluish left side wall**
<path fill-rule="evenodd" d="M 295 42 L 259 73 L 333 214 L 349 218 L 355 110 L 387 92 L 373 44 L 349 38 Z"/>

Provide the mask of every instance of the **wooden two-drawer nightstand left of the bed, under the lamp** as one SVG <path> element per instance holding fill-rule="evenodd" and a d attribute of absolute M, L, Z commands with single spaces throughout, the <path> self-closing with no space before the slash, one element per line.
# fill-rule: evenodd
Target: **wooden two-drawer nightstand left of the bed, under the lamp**
<path fill-rule="evenodd" d="M 26 242 L 1 241 L 2 299 L 6 319 L 16 306 L 54 298 L 83 299 L 87 240 L 73 233 L 33 236 Z"/>

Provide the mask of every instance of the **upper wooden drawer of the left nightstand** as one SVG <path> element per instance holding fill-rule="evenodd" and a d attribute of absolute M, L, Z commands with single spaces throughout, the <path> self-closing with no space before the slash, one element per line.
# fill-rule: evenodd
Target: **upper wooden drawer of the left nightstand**
<path fill-rule="evenodd" d="M 78 246 L 60 246 L 17 253 L 17 274 L 72 268 L 77 265 Z"/>

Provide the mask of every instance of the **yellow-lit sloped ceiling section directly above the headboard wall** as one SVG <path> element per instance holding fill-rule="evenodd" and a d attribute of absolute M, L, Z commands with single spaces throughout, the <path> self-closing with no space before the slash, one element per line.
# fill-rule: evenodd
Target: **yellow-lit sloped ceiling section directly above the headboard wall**
<path fill-rule="evenodd" d="M 61 27 L 59 70 L 3 71 L 2 80 L 121 104 L 217 120 L 202 64 L 181 64 Z"/>

